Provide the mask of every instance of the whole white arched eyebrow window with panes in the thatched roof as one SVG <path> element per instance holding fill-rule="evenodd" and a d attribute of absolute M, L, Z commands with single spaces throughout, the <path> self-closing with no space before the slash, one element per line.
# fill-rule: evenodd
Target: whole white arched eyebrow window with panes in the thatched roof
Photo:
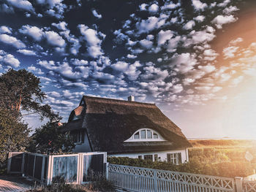
<path fill-rule="evenodd" d="M 140 128 L 124 142 L 160 142 L 166 141 L 157 131 L 151 128 Z"/>

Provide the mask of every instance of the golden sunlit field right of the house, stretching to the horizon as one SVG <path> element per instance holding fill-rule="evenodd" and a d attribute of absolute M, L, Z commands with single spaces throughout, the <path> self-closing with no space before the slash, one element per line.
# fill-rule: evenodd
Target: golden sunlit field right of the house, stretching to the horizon
<path fill-rule="evenodd" d="M 190 163 L 197 164 L 202 174 L 223 177 L 246 177 L 255 174 L 256 141 L 238 139 L 189 140 Z"/>

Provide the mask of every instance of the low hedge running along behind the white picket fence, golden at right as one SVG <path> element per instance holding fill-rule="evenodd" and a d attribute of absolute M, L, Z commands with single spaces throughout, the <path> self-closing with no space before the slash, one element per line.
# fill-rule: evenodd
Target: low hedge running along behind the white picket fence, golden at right
<path fill-rule="evenodd" d="M 214 162 L 211 161 L 214 159 Z M 225 159 L 225 161 L 220 161 Z M 110 164 L 127 166 L 138 166 L 150 169 L 162 169 L 174 172 L 189 172 L 195 174 L 208 174 L 221 177 L 246 177 L 253 174 L 254 166 L 246 161 L 227 161 L 227 157 L 220 155 L 219 161 L 212 156 L 192 156 L 189 162 L 181 165 L 174 165 L 167 161 L 147 161 L 138 158 L 108 157 Z"/>

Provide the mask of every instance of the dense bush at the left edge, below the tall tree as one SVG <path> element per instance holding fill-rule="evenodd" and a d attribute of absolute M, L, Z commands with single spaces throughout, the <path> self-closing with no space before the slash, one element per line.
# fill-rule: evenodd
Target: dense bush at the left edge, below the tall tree
<path fill-rule="evenodd" d="M 7 159 L 8 152 L 25 150 L 28 135 L 28 126 L 0 107 L 0 163 Z"/>

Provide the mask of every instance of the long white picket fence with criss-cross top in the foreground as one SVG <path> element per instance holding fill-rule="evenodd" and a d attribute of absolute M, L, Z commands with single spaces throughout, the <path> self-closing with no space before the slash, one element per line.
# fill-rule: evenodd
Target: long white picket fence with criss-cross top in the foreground
<path fill-rule="evenodd" d="M 117 188 L 145 192 L 256 192 L 256 182 L 108 164 L 108 179 Z"/>

